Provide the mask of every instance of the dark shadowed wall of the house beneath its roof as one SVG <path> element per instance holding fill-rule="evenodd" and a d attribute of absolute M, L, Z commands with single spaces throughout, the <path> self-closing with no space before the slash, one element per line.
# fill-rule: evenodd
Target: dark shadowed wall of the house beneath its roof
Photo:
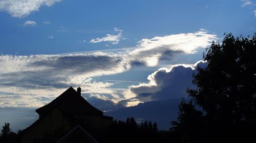
<path fill-rule="evenodd" d="M 34 138 L 44 138 L 46 133 L 53 134 L 55 138 L 61 138 L 77 124 L 84 127 L 92 125 L 94 128 L 105 130 L 111 122 L 102 115 L 75 114 L 72 116 L 76 120 L 71 121 L 58 107 L 54 107 L 23 132 L 22 143 L 32 143 Z"/>

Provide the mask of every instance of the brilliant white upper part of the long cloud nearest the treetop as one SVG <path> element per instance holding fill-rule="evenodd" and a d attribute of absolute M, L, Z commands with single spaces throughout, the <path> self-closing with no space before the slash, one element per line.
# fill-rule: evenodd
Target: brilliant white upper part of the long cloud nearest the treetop
<path fill-rule="evenodd" d="M 206 30 L 200 29 L 196 33 L 176 34 L 163 37 L 154 37 L 152 39 L 142 39 L 138 43 L 138 49 L 134 52 L 141 52 L 151 49 L 168 48 L 174 51 L 183 51 L 185 53 L 195 53 L 198 47 L 206 47 L 217 36 L 208 34 Z"/>

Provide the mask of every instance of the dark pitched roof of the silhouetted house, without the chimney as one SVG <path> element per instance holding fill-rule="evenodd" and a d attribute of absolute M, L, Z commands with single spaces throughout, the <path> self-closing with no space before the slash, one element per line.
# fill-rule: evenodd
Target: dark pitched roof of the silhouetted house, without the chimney
<path fill-rule="evenodd" d="M 89 113 L 103 115 L 102 111 L 92 106 L 72 87 L 63 92 L 49 104 L 42 106 L 35 111 L 40 115 L 41 113 L 46 113 L 47 111 L 51 110 L 51 108 L 56 104 L 67 113 Z"/>

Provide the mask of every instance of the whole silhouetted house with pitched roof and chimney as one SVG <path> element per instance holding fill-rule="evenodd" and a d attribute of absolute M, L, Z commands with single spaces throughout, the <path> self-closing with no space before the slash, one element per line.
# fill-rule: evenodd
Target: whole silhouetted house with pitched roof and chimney
<path fill-rule="evenodd" d="M 88 131 L 102 133 L 113 119 L 88 103 L 81 96 L 80 88 L 75 91 L 72 87 L 36 112 L 39 119 L 22 131 L 24 143 L 68 142 L 72 138 L 95 142 Z"/>

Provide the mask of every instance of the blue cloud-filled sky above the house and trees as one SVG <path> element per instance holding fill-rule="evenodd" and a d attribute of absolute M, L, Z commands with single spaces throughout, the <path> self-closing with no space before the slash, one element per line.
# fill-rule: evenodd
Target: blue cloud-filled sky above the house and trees
<path fill-rule="evenodd" d="M 0 19 L 1 125 L 28 127 L 34 109 L 70 86 L 114 118 L 161 122 L 177 108 L 160 105 L 195 88 L 192 74 L 207 64 L 212 41 L 253 35 L 256 2 L 0 0 Z"/>

